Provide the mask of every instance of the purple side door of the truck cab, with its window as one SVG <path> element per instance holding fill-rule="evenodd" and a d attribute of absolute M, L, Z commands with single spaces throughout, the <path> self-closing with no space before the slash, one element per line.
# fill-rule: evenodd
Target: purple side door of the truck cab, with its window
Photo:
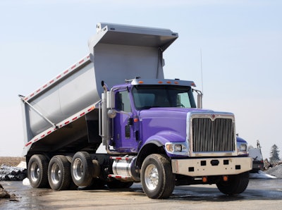
<path fill-rule="evenodd" d="M 114 118 L 114 147 L 118 152 L 137 152 L 137 141 L 134 136 L 133 111 L 128 89 L 116 92 L 116 110 Z"/>

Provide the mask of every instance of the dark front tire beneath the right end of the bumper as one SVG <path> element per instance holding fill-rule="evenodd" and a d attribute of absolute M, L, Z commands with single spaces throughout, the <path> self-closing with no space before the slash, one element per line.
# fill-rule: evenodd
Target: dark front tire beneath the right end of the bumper
<path fill-rule="evenodd" d="M 229 175 L 226 182 L 221 180 L 219 183 L 216 183 L 216 186 L 224 194 L 240 194 L 246 190 L 249 184 L 249 175 L 249 171 L 238 175 Z"/>

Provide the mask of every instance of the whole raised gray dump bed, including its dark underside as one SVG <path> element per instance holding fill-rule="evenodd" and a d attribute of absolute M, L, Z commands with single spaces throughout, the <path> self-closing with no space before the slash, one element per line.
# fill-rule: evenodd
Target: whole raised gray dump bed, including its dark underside
<path fill-rule="evenodd" d="M 21 97 L 23 155 L 97 149 L 102 80 L 111 88 L 137 76 L 164 78 L 162 53 L 177 37 L 166 29 L 99 23 L 89 55 Z"/>

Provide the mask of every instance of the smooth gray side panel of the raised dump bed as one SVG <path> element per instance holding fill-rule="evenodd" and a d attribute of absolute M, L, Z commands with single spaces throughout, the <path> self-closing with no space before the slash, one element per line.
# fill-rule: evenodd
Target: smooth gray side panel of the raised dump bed
<path fill-rule="evenodd" d="M 94 68 L 90 60 L 61 76 L 49 87 L 35 93 L 30 94 L 31 97 L 26 97 L 27 102 L 32 106 L 22 101 L 25 144 L 39 133 L 51 128 L 49 121 L 58 124 L 100 100 Z"/>

